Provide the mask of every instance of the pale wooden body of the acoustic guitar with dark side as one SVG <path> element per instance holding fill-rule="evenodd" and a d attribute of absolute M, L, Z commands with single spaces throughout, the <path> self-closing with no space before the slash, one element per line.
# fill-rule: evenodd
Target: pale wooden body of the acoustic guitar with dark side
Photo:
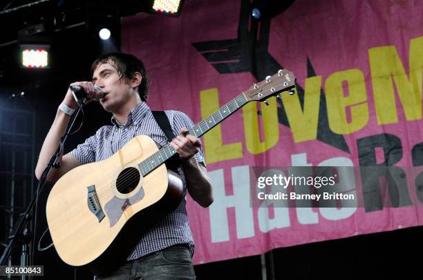
<path fill-rule="evenodd" d="M 162 164 L 142 177 L 138 163 L 157 151 L 153 139 L 138 136 L 109 159 L 74 168 L 55 183 L 46 216 L 65 263 L 107 274 L 126 260 L 144 228 L 178 206 L 176 172 Z"/>

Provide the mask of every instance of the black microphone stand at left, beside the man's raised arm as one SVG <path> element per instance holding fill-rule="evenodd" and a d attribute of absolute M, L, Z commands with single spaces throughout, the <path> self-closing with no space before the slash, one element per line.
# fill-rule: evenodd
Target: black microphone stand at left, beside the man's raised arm
<path fill-rule="evenodd" d="M 41 177 L 39 178 L 38 185 L 37 185 L 37 192 L 35 193 L 34 197 L 32 197 L 32 200 L 26 208 L 26 211 L 21 213 L 19 215 L 19 219 L 17 223 L 15 223 L 15 226 L 13 227 L 12 232 L 10 233 L 10 236 L 8 237 L 9 243 L 6 249 L 3 251 L 3 254 L 0 258 L 0 266 L 4 266 L 6 263 L 6 260 L 10 256 L 10 251 L 12 249 L 13 243 L 16 241 L 17 243 L 21 243 L 22 245 L 22 252 L 21 252 L 21 266 L 28 266 L 28 260 L 29 260 L 29 246 L 30 241 L 32 239 L 32 232 L 29 228 L 29 223 L 32 220 L 32 208 L 34 208 L 35 203 L 38 199 L 38 194 L 41 191 L 41 188 L 44 186 L 44 183 L 46 183 L 46 179 L 48 176 L 48 173 L 52 170 L 52 168 L 59 168 L 59 157 L 60 154 L 63 152 L 63 146 L 64 142 L 68 138 L 69 132 L 71 132 L 71 129 L 73 128 L 73 125 L 75 124 L 75 121 L 78 117 L 79 112 L 82 111 L 82 107 L 87 103 L 86 98 L 82 98 L 81 100 L 78 100 L 75 94 L 73 94 L 73 97 L 75 98 L 75 101 L 77 101 L 78 108 L 76 112 L 73 114 L 73 119 L 71 121 L 71 125 L 68 126 L 66 129 L 66 132 L 64 136 L 60 139 L 59 146 L 57 147 L 57 150 L 55 154 L 53 154 L 53 157 L 51 157 L 50 161 L 48 162 L 46 168 L 44 169 L 43 173 L 41 174 Z M 32 245 L 33 246 L 33 245 Z M 33 257 L 33 256 L 32 256 Z M 22 275 L 21 280 L 26 280 L 27 275 Z"/>

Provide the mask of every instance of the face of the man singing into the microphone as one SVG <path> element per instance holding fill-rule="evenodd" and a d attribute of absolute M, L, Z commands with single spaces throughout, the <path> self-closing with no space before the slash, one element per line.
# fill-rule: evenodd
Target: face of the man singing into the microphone
<path fill-rule="evenodd" d="M 131 86 L 127 79 L 120 79 L 118 70 L 113 63 L 102 63 L 93 73 L 94 86 L 100 86 L 106 96 L 100 99 L 104 110 L 107 112 L 118 112 L 131 97 Z"/>

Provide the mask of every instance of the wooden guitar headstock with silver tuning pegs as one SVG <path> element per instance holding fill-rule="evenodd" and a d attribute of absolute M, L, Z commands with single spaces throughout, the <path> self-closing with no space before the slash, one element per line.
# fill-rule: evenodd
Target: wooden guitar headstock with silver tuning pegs
<path fill-rule="evenodd" d="M 288 70 L 279 70 L 273 76 L 267 76 L 266 79 L 254 85 L 245 91 L 245 97 L 248 101 L 267 101 L 265 99 L 279 94 L 283 90 L 290 90 L 295 86 L 295 76 Z M 294 91 L 290 90 L 290 94 Z"/>

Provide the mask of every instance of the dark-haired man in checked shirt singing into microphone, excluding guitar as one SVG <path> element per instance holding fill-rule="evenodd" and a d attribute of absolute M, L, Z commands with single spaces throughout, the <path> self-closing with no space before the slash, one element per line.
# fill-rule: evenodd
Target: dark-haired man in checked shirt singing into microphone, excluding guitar
<path fill-rule="evenodd" d="M 113 114 L 111 126 L 103 126 L 73 151 L 63 155 L 60 168 L 50 172 L 48 181 L 57 181 L 66 172 L 82 164 L 111 157 L 140 134 L 151 137 L 161 146 L 168 143 L 166 134 L 146 103 L 149 78 L 142 61 L 131 54 L 105 54 L 94 61 L 91 74 L 92 81 L 79 81 L 71 83 L 71 86 L 82 87 L 88 100 L 97 94 L 95 86 L 102 88 L 106 95 L 100 99 L 100 103 L 104 110 Z M 68 90 L 41 148 L 35 169 L 37 179 L 55 153 L 76 108 L 72 91 Z M 176 171 L 182 179 L 183 195 L 185 197 L 188 190 L 200 206 L 207 207 L 213 202 L 213 197 L 203 150 L 200 140 L 187 134 L 194 123 L 183 112 L 169 110 L 165 113 L 173 134 L 178 135 L 171 141 L 171 146 L 180 157 L 180 166 Z M 191 261 L 194 242 L 185 203 L 185 199 L 182 199 L 176 210 L 143 230 L 126 263 L 100 279 L 194 279 Z"/>

